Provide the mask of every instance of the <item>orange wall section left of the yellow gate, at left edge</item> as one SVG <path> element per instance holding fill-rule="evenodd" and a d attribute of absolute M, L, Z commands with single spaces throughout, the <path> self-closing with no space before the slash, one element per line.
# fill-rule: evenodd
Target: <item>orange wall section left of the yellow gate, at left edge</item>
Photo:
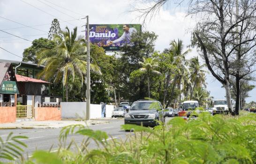
<path fill-rule="evenodd" d="M 16 121 L 16 107 L 0 107 L 0 124 Z"/>

